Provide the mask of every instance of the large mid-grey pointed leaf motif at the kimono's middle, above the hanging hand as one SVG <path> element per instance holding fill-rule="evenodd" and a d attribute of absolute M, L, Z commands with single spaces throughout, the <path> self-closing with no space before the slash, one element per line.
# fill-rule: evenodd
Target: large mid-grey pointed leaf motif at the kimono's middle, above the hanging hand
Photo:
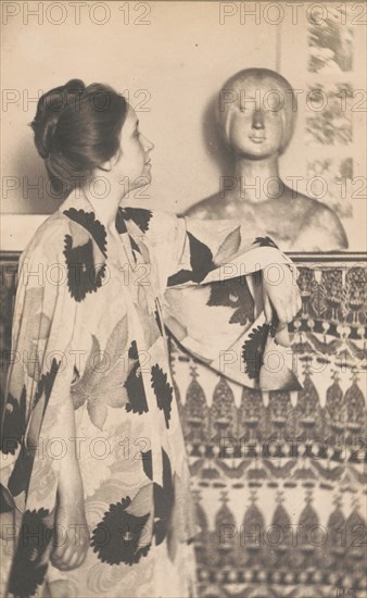
<path fill-rule="evenodd" d="M 105 346 L 100 350 L 98 338 L 92 335 L 92 347 L 83 376 L 71 386 L 74 409 L 79 409 L 87 400 L 87 410 L 92 424 L 103 428 L 107 407 L 121 408 L 127 403 L 126 381 L 127 359 L 123 356 L 127 344 L 127 317 L 124 315 L 112 331 Z M 107 367 L 103 362 L 109 356 Z"/>

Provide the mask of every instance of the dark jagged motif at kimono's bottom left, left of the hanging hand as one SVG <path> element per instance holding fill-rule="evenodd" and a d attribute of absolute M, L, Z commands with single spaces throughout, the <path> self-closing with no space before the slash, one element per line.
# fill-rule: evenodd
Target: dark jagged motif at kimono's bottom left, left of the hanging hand
<path fill-rule="evenodd" d="M 39 509 L 23 515 L 9 581 L 9 593 L 14 597 L 30 598 L 43 583 L 48 563 L 42 563 L 42 557 L 52 537 L 43 522 L 48 513 Z"/>

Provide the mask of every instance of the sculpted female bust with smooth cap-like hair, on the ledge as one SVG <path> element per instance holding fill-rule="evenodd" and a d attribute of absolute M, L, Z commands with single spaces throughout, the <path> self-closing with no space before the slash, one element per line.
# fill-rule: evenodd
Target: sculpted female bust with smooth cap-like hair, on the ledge
<path fill-rule="evenodd" d="M 347 248 L 338 215 L 325 203 L 288 187 L 278 159 L 294 130 L 295 97 L 281 75 L 246 68 L 222 88 L 219 133 L 232 154 L 232 172 L 219 192 L 189 208 L 199 219 L 248 219 L 266 231 L 283 251 Z"/>

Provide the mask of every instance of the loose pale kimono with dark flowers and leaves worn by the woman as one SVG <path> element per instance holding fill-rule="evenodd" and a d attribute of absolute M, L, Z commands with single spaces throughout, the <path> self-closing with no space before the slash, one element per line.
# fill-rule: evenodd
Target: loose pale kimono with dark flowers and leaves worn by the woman
<path fill-rule="evenodd" d="M 21 257 L 1 444 L 8 597 L 197 596 L 198 530 L 164 322 L 232 379 L 299 385 L 286 353 L 276 373 L 265 367 L 281 348 L 264 323 L 258 275 L 290 263 L 271 239 L 243 223 L 136 208 L 119 208 L 115 225 L 110 238 L 73 192 Z M 213 285 L 235 276 L 255 310 L 246 326 L 228 326 L 228 309 L 210 301 Z M 49 553 L 71 440 L 91 540 L 85 562 L 62 572 Z"/>

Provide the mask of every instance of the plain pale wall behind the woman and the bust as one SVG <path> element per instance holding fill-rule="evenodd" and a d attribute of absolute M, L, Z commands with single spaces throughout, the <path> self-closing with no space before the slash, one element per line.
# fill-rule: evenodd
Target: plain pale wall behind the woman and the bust
<path fill-rule="evenodd" d="M 137 109 L 141 130 L 155 144 L 153 183 L 136 191 L 130 202 L 184 211 L 217 191 L 220 176 L 228 174 L 212 115 L 220 87 L 242 68 L 263 66 L 278 71 L 304 91 L 299 96 L 293 138 L 280 158 L 280 175 L 288 184 L 289 177 L 302 177 L 298 189 L 312 195 L 306 188 L 309 162 L 319 155 L 353 158 L 356 185 L 352 191 L 356 194 L 345 199 L 353 215 L 343 217 L 342 223 L 350 249 L 366 249 L 360 224 L 367 220 L 366 190 L 358 192 L 360 183 L 366 182 L 366 109 L 352 115 L 352 147 L 321 147 L 305 140 L 305 92 L 312 83 L 318 86 L 334 80 L 333 74 L 328 78 L 307 71 L 306 15 L 313 3 L 300 3 L 296 13 L 290 3 L 283 3 L 284 17 L 278 24 L 273 23 L 279 3 L 266 2 L 89 1 L 80 9 L 79 24 L 72 2 L 63 2 L 64 14 L 60 2 L 8 4 L 20 12 L 2 26 L 3 213 L 41 214 L 58 208 L 59 202 L 48 192 L 43 164 L 27 124 L 35 115 L 38 96 L 71 78 L 106 83 L 127 95 Z M 336 4 L 325 3 L 329 5 Z M 27 15 L 26 7 L 38 8 L 38 14 Z M 243 7 L 253 14 L 244 18 Z M 353 16 L 356 21 L 352 11 Z M 56 25 L 58 20 L 64 22 Z M 351 82 L 366 98 L 366 28 L 359 21 L 353 25 L 353 72 L 337 78 Z M 40 190 L 31 188 L 39 177 Z M 322 201 L 328 203 L 328 197 Z"/>

